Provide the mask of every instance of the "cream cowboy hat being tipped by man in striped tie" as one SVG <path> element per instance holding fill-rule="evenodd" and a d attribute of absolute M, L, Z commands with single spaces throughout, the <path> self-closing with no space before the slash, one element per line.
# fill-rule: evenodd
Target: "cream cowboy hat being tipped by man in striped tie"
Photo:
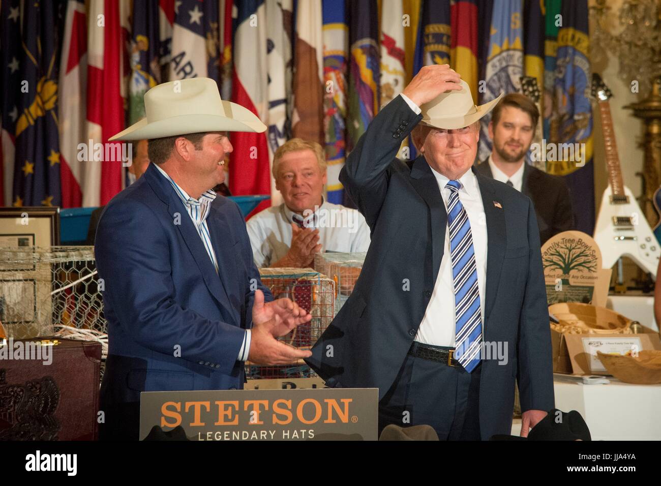
<path fill-rule="evenodd" d="M 490 112 L 503 95 L 500 93 L 498 98 L 477 106 L 473 103 L 473 95 L 466 81 L 462 79 L 460 83 L 461 90 L 446 91 L 420 106 L 420 123 L 446 130 L 469 126 Z"/>

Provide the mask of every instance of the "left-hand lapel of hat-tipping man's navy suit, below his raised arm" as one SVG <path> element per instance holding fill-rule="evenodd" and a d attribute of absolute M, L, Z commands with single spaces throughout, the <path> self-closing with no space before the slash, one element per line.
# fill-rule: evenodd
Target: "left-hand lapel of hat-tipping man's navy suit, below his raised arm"
<path fill-rule="evenodd" d="M 445 247 L 447 212 L 436 177 L 422 155 L 413 163 L 411 184 L 429 206 L 432 218 L 432 268 L 434 270 L 432 285 L 434 285 Z"/>

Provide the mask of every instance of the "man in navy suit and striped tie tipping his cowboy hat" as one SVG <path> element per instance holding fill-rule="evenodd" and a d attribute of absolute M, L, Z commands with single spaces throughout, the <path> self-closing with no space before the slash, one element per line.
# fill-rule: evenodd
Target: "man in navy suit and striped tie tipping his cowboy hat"
<path fill-rule="evenodd" d="M 479 120 L 447 65 L 423 67 L 369 124 L 340 181 L 371 245 L 354 291 L 307 362 L 331 387 L 378 387 L 379 428 L 441 440 L 522 435 L 553 409 L 551 333 L 535 210 L 477 173 Z M 412 133 L 420 155 L 396 159 Z"/>

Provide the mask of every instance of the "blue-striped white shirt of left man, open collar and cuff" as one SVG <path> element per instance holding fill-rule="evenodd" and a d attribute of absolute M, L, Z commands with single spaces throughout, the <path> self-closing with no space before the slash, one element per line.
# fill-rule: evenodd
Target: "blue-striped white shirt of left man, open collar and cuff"
<path fill-rule="evenodd" d="M 214 265 L 215 272 L 217 273 L 218 262 L 215 257 L 215 251 L 214 246 L 212 245 L 209 227 L 206 223 L 206 218 L 209 216 L 209 212 L 211 210 L 211 203 L 214 202 L 214 199 L 216 198 L 215 191 L 210 189 L 202 193 L 199 199 L 194 199 L 188 196 L 188 193 L 186 193 L 185 190 L 183 190 L 175 181 L 173 181 L 167 172 L 161 169 L 158 164 L 154 164 L 154 166 L 159 169 L 159 172 L 163 175 L 163 177 L 165 177 L 165 179 L 167 179 L 170 184 L 172 184 L 176 195 L 181 200 L 184 208 L 186 208 L 186 212 L 188 213 L 188 216 L 190 216 L 190 220 L 193 222 L 195 229 L 198 231 L 198 235 L 200 235 L 200 239 L 202 240 L 202 245 L 204 245 L 204 249 L 206 249 L 209 258 L 211 259 L 211 263 Z M 200 276 L 200 278 L 202 277 Z M 241 344 L 241 349 L 239 350 L 239 356 L 237 358 L 239 361 L 245 361 L 248 359 L 250 342 L 251 333 L 250 329 L 247 329 L 245 335 L 243 336 L 243 344 Z"/>

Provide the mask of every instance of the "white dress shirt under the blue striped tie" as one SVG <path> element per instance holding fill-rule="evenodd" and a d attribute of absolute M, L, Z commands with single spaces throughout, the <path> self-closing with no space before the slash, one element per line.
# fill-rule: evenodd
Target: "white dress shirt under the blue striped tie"
<path fill-rule="evenodd" d="M 443 204 L 446 206 L 450 196 L 450 190 L 446 188 L 449 181 L 447 177 L 432 169 L 438 188 L 441 191 Z M 473 250 L 475 251 L 475 266 L 477 267 L 477 285 L 480 291 L 480 311 L 482 324 L 485 322 L 485 288 L 486 288 L 486 216 L 482 204 L 482 195 L 477 184 L 477 177 L 473 171 L 467 171 L 461 178 L 459 189 L 459 201 L 463 205 L 471 222 L 471 234 L 473 235 Z M 438 222 L 440 224 L 440 222 Z M 441 266 L 436 277 L 436 284 L 432 292 L 432 298 L 427 304 L 427 309 L 418 328 L 415 341 L 418 343 L 432 344 L 433 346 L 455 346 L 455 324 L 457 321 L 455 313 L 455 289 L 452 278 L 452 261 L 450 257 L 449 227 L 446 223 L 446 239 L 444 243 Z M 484 328 L 483 328 L 484 329 Z"/>

